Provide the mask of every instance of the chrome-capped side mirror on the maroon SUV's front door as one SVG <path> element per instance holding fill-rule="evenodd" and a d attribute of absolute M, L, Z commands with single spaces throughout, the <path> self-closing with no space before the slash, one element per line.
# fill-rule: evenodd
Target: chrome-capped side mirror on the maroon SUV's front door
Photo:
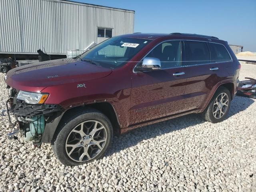
<path fill-rule="evenodd" d="M 142 66 L 137 68 L 140 71 L 160 70 L 161 62 L 160 62 L 160 59 L 158 58 L 145 57 L 142 61 Z"/>

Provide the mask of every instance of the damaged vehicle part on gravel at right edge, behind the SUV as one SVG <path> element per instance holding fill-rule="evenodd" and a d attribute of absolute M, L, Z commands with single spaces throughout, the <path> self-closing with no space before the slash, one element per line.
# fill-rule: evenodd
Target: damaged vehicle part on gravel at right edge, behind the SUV
<path fill-rule="evenodd" d="M 256 79 L 246 77 L 245 81 L 240 81 L 237 95 L 256 99 Z"/>

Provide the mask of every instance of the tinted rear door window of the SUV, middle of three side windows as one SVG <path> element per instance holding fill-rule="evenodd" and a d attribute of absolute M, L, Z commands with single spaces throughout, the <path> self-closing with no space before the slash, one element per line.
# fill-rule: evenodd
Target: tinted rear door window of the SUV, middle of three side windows
<path fill-rule="evenodd" d="M 210 52 L 206 42 L 184 41 L 183 66 L 210 63 Z"/>

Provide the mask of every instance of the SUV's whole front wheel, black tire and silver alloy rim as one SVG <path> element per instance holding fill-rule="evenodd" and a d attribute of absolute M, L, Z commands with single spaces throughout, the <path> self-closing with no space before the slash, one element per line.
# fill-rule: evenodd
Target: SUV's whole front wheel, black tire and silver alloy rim
<path fill-rule="evenodd" d="M 52 141 L 53 151 L 65 165 L 75 166 L 99 159 L 112 140 L 110 120 L 97 110 L 80 111 L 62 122 Z"/>

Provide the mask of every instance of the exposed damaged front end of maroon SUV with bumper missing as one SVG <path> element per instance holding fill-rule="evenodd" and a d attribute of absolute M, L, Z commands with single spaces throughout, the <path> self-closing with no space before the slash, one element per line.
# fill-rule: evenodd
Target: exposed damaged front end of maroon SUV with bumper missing
<path fill-rule="evenodd" d="M 10 89 L 10 87 L 7 88 Z M 23 97 L 21 96 L 21 92 L 22 91 L 14 88 L 11 88 L 9 91 L 9 99 L 6 102 L 6 112 L 8 121 L 14 130 L 9 133 L 7 137 L 9 140 L 16 139 L 16 134 L 22 132 L 24 141 L 32 141 L 34 146 L 40 147 L 42 142 L 49 142 L 49 139 L 44 136 L 45 129 L 62 114 L 64 109 L 57 104 L 40 104 L 40 102 L 37 104 L 29 104 L 28 102 L 32 103 L 32 101 L 27 101 L 26 98 L 24 99 L 27 92 L 22 93 Z M 36 93 L 31 94 L 32 96 L 33 94 L 36 95 Z M 35 98 L 37 97 L 35 96 Z M 10 113 L 15 115 L 15 122 L 11 122 Z M 16 126 L 18 126 L 18 129 L 15 129 Z"/>

